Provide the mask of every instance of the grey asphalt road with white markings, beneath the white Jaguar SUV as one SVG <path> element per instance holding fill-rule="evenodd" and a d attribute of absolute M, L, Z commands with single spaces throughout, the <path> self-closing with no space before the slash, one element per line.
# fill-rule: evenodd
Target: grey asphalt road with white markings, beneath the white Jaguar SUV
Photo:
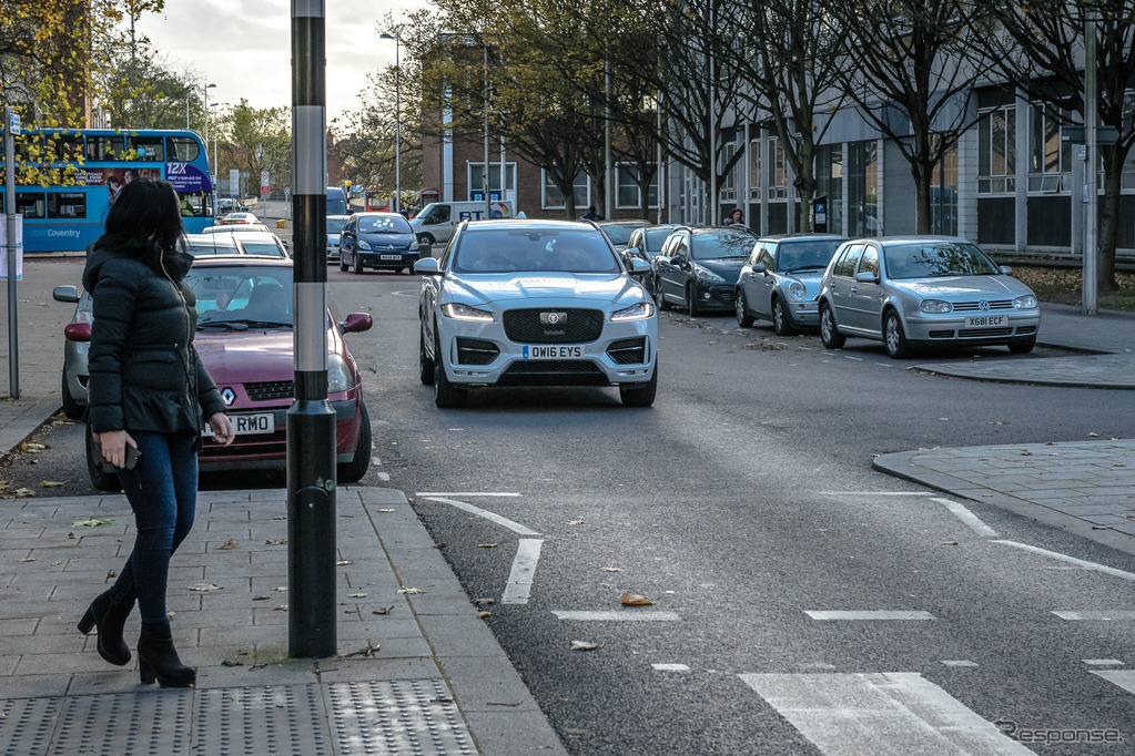
<path fill-rule="evenodd" d="M 417 279 L 329 279 L 336 316 L 375 317 L 347 337 L 375 428 L 363 483 L 405 491 L 469 596 L 493 601 L 489 626 L 572 753 L 1027 753 L 994 751 L 1016 745 L 994 721 L 1125 740 L 1035 753 L 1133 753 L 1135 683 L 1100 663 L 1135 656 L 1129 620 L 1053 612 L 1132 612 L 1135 558 L 966 502 L 992 538 L 869 469 L 919 447 L 1130 438 L 1132 392 L 943 379 L 864 341 L 830 352 L 666 313 L 653 408 L 515 389 L 443 411 L 418 382 Z M 62 476 L 81 439 L 52 428 L 37 465 L 6 475 Z"/>

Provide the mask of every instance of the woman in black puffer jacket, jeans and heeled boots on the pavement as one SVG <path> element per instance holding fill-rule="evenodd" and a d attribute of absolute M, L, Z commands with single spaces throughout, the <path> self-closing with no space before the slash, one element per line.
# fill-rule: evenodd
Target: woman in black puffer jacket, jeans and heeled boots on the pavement
<path fill-rule="evenodd" d="M 137 535 L 118 579 L 91 603 L 78 629 L 85 635 L 96 626 L 99 654 L 127 664 L 123 629 L 136 598 L 142 682 L 163 688 L 196 681 L 196 670 L 174 648 L 166 587 L 169 559 L 193 527 L 202 417 L 216 441 L 233 441 L 225 404 L 193 347 L 195 299 L 183 282 L 193 258 L 178 249 L 180 239 L 173 186 L 135 179 L 110 206 L 83 272 L 94 299 L 87 422 L 102 456 L 118 468 Z"/>

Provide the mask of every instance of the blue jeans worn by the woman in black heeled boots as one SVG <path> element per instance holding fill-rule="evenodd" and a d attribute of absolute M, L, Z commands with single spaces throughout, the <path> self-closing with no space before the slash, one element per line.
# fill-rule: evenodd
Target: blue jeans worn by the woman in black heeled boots
<path fill-rule="evenodd" d="M 110 588 L 116 603 L 137 597 L 143 622 L 166 622 L 169 558 L 193 527 L 197 507 L 197 455 L 192 433 L 133 431 L 137 467 L 119 469 L 134 510 L 134 550 Z"/>

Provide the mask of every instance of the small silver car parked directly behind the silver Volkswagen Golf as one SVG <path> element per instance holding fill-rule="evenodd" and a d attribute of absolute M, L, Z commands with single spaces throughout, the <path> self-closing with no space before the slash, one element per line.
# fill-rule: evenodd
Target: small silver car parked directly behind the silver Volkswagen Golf
<path fill-rule="evenodd" d="M 772 321 L 777 335 L 819 324 L 819 282 L 844 236 L 764 236 L 737 279 L 737 323 Z"/>

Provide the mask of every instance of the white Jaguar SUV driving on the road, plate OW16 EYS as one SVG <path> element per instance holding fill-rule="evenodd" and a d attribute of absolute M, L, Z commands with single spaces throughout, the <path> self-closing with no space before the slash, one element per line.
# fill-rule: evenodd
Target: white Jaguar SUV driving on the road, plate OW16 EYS
<path fill-rule="evenodd" d="M 654 300 L 607 237 L 589 223 L 464 222 L 423 277 L 419 368 L 438 407 L 469 389 L 617 385 L 647 407 L 658 385 Z"/>

